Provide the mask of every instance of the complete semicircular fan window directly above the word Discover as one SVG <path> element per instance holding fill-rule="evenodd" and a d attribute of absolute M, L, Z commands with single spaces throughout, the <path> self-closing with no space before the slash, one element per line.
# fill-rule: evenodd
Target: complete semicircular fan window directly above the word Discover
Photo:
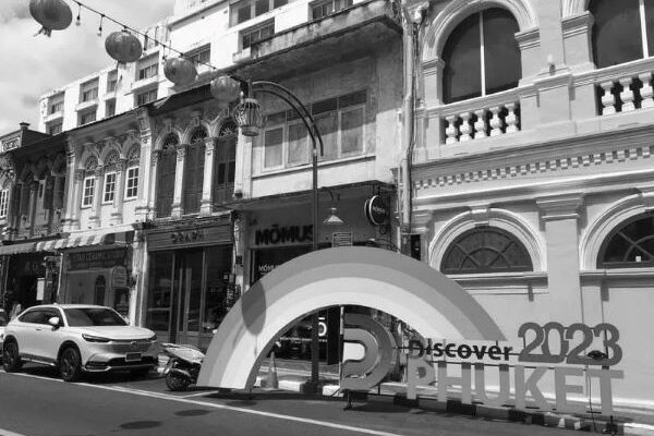
<path fill-rule="evenodd" d="M 511 233 L 477 227 L 459 235 L 440 264 L 444 274 L 516 272 L 533 270 L 524 245 Z"/>

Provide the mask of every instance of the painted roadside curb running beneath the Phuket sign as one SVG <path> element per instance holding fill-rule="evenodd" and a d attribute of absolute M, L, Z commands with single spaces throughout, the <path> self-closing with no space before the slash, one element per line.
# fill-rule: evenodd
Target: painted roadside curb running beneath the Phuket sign
<path fill-rule="evenodd" d="M 304 390 L 304 379 L 283 379 L 279 380 L 279 389 L 302 392 Z M 256 386 L 266 389 L 265 374 L 257 376 Z M 338 385 L 323 385 L 322 395 L 325 397 L 342 397 Z M 545 427 L 556 427 L 581 432 L 593 432 L 608 435 L 633 435 L 633 436 L 654 436 L 654 425 L 640 424 L 633 422 L 609 422 L 604 416 L 592 417 L 574 416 L 569 414 L 559 414 L 554 412 L 526 412 L 510 408 L 489 407 L 484 404 L 464 404 L 460 400 L 438 401 L 435 398 L 421 398 L 415 400 L 407 399 L 402 393 L 379 395 L 371 392 L 352 392 L 354 402 L 384 403 L 392 402 L 397 405 L 403 405 L 413 409 L 422 409 L 440 413 L 456 413 L 469 416 L 483 417 L 494 421 L 508 421 L 532 425 L 542 425 Z"/>

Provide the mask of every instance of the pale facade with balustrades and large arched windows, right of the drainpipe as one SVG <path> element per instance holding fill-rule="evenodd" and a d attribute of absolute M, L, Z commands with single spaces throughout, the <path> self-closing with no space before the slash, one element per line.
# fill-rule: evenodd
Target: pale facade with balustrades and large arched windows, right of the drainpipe
<path fill-rule="evenodd" d="M 514 343 L 528 322 L 613 324 L 614 402 L 654 407 L 653 4 L 410 3 L 423 261 Z M 613 354 L 596 336 L 584 355 Z"/>

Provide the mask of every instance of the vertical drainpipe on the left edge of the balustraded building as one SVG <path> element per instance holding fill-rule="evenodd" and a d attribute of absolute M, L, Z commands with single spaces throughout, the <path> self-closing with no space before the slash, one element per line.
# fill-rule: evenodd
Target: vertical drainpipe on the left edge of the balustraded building
<path fill-rule="evenodd" d="M 411 160 L 413 155 L 413 125 L 414 125 L 414 24 L 419 26 L 423 22 L 427 5 L 421 5 L 410 15 L 407 8 L 402 8 L 402 41 L 404 61 L 404 99 L 402 101 L 402 157 L 400 161 L 400 178 L 402 184 L 402 213 L 400 216 L 400 229 L 403 233 L 411 231 Z"/>

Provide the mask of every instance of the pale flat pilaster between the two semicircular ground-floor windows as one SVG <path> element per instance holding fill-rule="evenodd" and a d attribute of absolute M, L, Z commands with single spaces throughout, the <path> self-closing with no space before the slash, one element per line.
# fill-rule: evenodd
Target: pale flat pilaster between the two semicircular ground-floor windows
<path fill-rule="evenodd" d="M 547 287 L 552 320 L 564 325 L 581 323 L 579 278 L 579 194 L 536 199 L 547 240 Z"/>

